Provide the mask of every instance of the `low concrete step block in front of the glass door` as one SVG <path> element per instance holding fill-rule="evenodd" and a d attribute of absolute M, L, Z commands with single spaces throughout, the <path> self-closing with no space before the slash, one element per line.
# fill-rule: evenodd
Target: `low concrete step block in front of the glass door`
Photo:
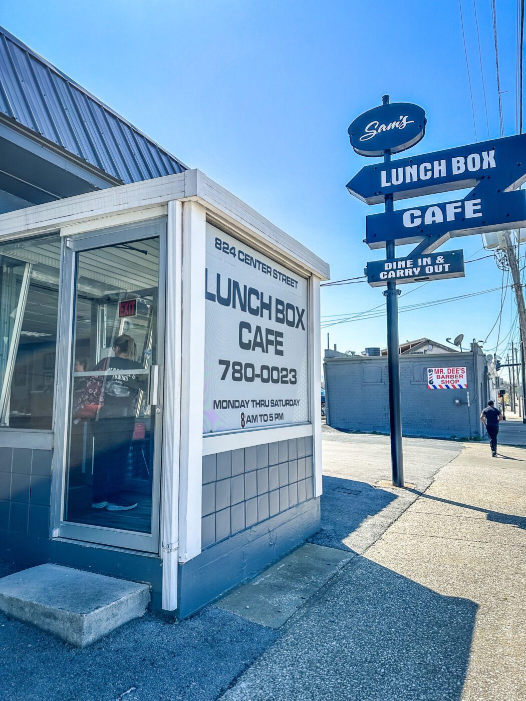
<path fill-rule="evenodd" d="M 145 584 L 45 564 L 0 579 L 0 610 L 79 648 L 144 614 Z"/>

